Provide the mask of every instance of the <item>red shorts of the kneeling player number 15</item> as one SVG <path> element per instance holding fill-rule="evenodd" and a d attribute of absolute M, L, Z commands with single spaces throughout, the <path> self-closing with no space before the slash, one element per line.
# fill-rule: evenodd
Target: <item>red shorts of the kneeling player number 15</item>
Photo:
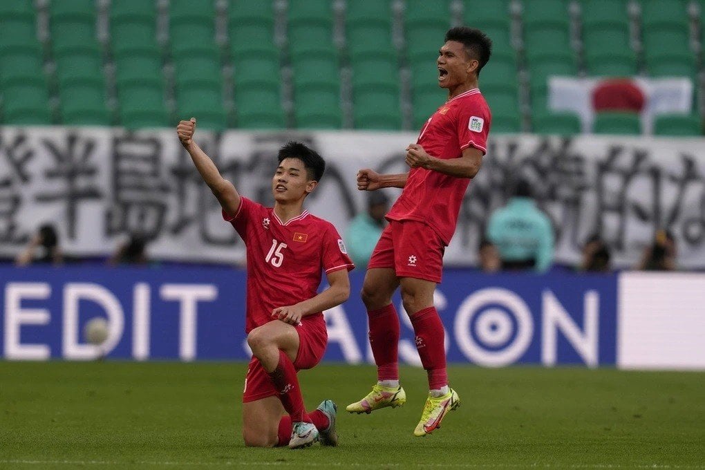
<path fill-rule="evenodd" d="M 299 333 L 299 350 L 296 353 L 294 367 L 297 371 L 311 369 L 321 361 L 326 352 L 326 344 L 328 343 L 326 322 L 323 316 L 303 319 L 301 325 L 296 327 L 296 331 Z M 277 392 L 274 384 L 271 383 L 269 374 L 259 363 L 259 359 L 252 357 L 250 364 L 247 365 L 243 402 L 254 402 L 275 395 Z"/>

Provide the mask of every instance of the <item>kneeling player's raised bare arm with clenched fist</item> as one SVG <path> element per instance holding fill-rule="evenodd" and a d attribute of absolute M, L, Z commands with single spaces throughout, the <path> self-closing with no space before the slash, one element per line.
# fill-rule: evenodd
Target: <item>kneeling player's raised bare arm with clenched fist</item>
<path fill-rule="evenodd" d="M 234 216 L 240 209 L 240 194 L 233 183 L 223 178 L 215 163 L 193 140 L 196 130 L 196 119 L 182 120 L 178 123 L 176 133 L 183 147 L 188 151 L 193 163 L 211 191 L 220 202 L 226 214 Z"/>

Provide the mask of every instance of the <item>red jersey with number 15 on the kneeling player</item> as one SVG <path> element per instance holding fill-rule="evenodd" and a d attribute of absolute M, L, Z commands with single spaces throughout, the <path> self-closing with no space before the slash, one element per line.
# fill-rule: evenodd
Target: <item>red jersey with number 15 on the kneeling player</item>
<path fill-rule="evenodd" d="M 271 321 L 276 307 L 315 297 L 321 272 L 355 267 L 333 224 L 303 211 L 287 223 L 243 197 L 238 214 L 223 218 L 232 223 L 247 248 L 247 321 L 245 332 Z M 324 322 L 323 314 L 307 321 Z"/>

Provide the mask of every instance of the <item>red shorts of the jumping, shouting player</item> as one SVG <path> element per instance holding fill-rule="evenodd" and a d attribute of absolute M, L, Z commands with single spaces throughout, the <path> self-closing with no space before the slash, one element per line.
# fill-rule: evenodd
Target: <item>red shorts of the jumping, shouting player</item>
<path fill-rule="evenodd" d="M 434 229 L 418 221 L 390 221 L 367 269 L 393 268 L 399 278 L 441 282 L 446 246 Z"/>

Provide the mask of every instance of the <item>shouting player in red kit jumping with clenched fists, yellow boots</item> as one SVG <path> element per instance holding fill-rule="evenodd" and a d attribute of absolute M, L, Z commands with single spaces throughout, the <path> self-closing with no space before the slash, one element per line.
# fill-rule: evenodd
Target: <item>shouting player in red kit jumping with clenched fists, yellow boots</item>
<path fill-rule="evenodd" d="M 443 251 L 453 237 L 467 185 L 486 152 L 491 114 L 477 86 L 491 47 L 491 40 L 479 30 L 448 30 L 436 61 L 439 86 L 448 89 L 448 101 L 424 124 L 417 142 L 407 147 L 411 170 L 380 175 L 365 168 L 357 173 L 359 190 L 400 187 L 403 191 L 386 216 L 390 223 L 372 253 L 362 286 L 377 383 L 347 409 L 369 413 L 406 402 L 399 385 L 399 317 L 391 303 L 401 286 L 404 309 L 429 378 L 429 396 L 414 430 L 417 436 L 439 428 L 446 413 L 460 404 L 458 394 L 448 387 L 443 324 L 433 301 L 436 284 L 441 282 Z"/>

